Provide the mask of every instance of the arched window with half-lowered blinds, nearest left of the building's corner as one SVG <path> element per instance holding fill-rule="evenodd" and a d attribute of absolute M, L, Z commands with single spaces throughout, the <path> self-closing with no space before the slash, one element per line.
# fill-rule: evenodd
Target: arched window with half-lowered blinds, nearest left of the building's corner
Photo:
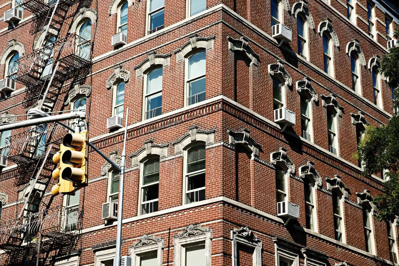
<path fill-rule="evenodd" d="M 205 199 L 205 145 L 199 144 L 187 150 L 186 203 Z"/>

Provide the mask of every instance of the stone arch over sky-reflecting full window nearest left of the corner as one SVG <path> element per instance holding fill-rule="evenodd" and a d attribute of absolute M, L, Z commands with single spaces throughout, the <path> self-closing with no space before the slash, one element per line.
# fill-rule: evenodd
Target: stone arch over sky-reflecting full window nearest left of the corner
<path fill-rule="evenodd" d="M 211 37 L 198 37 L 198 34 L 190 35 L 190 41 L 186 42 L 179 49 L 174 51 L 176 54 L 176 62 L 183 61 L 185 57 L 192 54 L 192 51 L 205 49 L 206 51 L 213 49 L 213 39 L 215 35 Z"/>

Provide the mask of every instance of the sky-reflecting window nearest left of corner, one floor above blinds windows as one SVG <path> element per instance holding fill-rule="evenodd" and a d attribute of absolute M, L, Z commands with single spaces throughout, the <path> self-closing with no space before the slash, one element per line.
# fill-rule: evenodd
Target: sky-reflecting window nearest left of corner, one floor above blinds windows
<path fill-rule="evenodd" d="M 205 51 L 201 51 L 187 60 L 188 105 L 205 100 L 205 55 Z"/>

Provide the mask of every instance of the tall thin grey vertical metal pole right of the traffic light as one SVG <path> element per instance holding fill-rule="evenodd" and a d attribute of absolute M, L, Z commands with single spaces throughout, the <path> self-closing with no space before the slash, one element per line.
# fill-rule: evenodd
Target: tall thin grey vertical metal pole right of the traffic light
<path fill-rule="evenodd" d="M 118 227 L 117 227 L 117 248 L 115 251 L 114 266 L 120 266 L 120 246 L 122 245 L 122 213 L 123 213 L 123 186 L 124 186 L 124 169 L 126 162 L 126 135 L 127 135 L 127 118 L 129 108 L 126 108 L 125 133 L 123 140 L 122 158 L 120 160 L 120 177 L 119 177 L 119 203 L 118 203 Z"/>

